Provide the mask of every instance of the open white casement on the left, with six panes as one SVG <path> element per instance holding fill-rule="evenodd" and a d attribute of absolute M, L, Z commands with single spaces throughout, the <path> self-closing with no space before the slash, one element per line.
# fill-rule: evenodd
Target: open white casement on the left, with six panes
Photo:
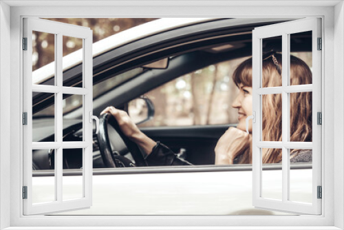
<path fill-rule="evenodd" d="M 54 85 L 32 83 L 32 32 L 54 34 L 55 70 Z M 92 111 L 93 111 L 93 60 L 92 30 L 78 25 L 58 23 L 45 19 L 23 19 L 23 36 L 27 40 L 27 50 L 23 51 L 23 112 L 27 113 L 27 125 L 23 127 L 23 186 L 27 187 L 27 198 L 23 199 L 24 215 L 40 213 L 56 213 L 71 209 L 83 209 L 92 206 Z M 63 36 L 83 39 L 83 86 L 63 86 Z M 52 93 L 54 105 L 54 142 L 32 142 L 32 92 Z M 83 141 L 63 141 L 63 94 L 80 95 L 83 97 Z M 32 150 L 55 149 L 54 167 L 54 201 L 33 204 L 32 202 Z M 63 200 L 63 149 L 82 149 L 82 198 Z"/>

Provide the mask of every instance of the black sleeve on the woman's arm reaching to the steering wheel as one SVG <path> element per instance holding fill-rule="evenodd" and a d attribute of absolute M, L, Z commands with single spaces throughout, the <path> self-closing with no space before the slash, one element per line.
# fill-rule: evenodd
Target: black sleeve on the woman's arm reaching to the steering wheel
<path fill-rule="evenodd" d="M 169 147 L 159 141 L 153 147 L 151 154 L 145 157 L 149 166 L 164 165 L 192 165 L 188 161 L 179 158 Z"/>

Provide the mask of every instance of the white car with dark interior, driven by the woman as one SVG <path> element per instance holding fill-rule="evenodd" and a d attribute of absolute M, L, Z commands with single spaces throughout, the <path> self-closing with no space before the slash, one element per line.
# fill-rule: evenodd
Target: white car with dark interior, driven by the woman
<path fill-rule="evenodd" d="M 226 112 L 226 98 L 236 94 L 230 73 L 252 55 L 252 29 L 281 21 L 286 19 L 158 19 L 94 43 L 94 114 L 109 105 L 127 110 L 142 132 L 193 166 L 148 167 L 103 118 L 103 130 L 94 134 L 93 205 L 57 215 L 288 215 L 252 207 L 252 165 L 214 165 L 217 140 L 236 125 L 237 116 Z M 308 33 L 294 37 L 291 52 L 312 52 L 311 39 Z M 278 51 L 279 43 L 269 39 L 264 47 Z M 80 52 L 64 58 L 64 85 L 82 83 Z M 50 84 L 53 76 L 54 64 L 48 64 L 33 81 Z M 32 101 L 33 141 L 54 141 L 54 99 L 36 93 Z M 81 105 L 66 96 L 64 141 L 83 138 Z M 47 202 L 54 196 L 54 150 L 32 154 L 32 199 Z M 81 150 L 64 152 L 64 198 L 82 196 L 81 167 Z M 264 196 L 281 197 L 281 178 L 281 165 L 266 166 Z M 290 178 L 294 200 L 312 202 L 312 163 L 292 165 Z"/>

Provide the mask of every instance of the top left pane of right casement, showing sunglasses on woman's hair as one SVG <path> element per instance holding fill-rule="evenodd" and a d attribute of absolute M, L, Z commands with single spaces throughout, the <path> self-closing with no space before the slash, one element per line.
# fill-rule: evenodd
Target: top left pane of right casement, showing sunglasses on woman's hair
<path fill-rule="evenodd" d="M 282 86 L 282 36 L 262 40 L 261 87 Z"/>

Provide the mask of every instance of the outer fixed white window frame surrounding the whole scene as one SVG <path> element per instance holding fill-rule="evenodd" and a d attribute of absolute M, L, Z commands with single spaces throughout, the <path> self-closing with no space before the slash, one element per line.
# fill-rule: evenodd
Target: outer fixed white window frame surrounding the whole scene
<path fill-rule="evenodd" d="M 87 1 L 89 4 L 89 1 Z M 137 3 L 137 2 L 136 2 Z M 95 226 L 94 229 L 100 229 L 100 226 L 111 227 L 112 229 L 122 229 L 121 226 L 146 227 L 145 229 L 197 229 L 195 225 L 212 226 L 217 229 L 237 229 L 235 226 L 244 226 L 247 229 L 285 229 L 282 226 L 289 226 L 288 229 L 343 229 L 344 221 L 344 198 L 343 198 L 343 34 L 344 34 L 344 13 L 343 1 L 255 1 L 252 6 L 251 1 L 231 1 L 228 3 L 207 1 L 200 2 L 189 1 L 188 6 L 180 6 L 182 2 L 166 1 L 165 3 L 154 3 L 155 6 L 149 6 L 149 1 L 137 3 L 136 6 L 129 6 L 129 3 L 112 3 L 118 6 L 109 6 L 108 1 L 103 3 L 104 7 L 83 6 L 85 1 L 52 1 L 40 2 L 38 4 L 50 4 L 45 7 L 28 8 L 28 4 L 37 4 L 34 1 L 19 1 L 13 4 L 19 4 L 18 7 L 8 6 L 11 1 L 1 2 L 0 11 L 0 29 L 1 29 L 1 59 L 0 59 L 0 222 L 1 228 L 10 227 L 10 229 L 26 229 L 28 226 L 41 226 L 42 229 L 50 229 L 52 226 L 61 226 L 61 229 L 76 229 L 76 227 Z M 22 4 L 22 5 L 21 5 Z M 60 6 L 56 6 L 60 4 Z M 67 4 L 69 6 L 67 6 Z M 92 3 L 91 3 L 92 4 Z M 125 6 L 121 6 L 125 4 Z M 142 4 L 140 6 L 140 4 Z M 270 6 L 274 4 L 275 6 Z M 298 4 L 301 6 L 294 6 Z M 309 6 L 317 4 L 317 6 Z M 25 6 L 26 5 L 26 6 Z M 54 5 L 54 6 L 52 6 Z M 73 7 L 70 5 L 78 6 Z M 158 6 L 156 6 L 158 5 Z M 166 7 L 172 5 L 175 7 Z M 276 6 L 280 5 L 280 6 Z M 37 5 L 36 5 L 37 6 Z M 146 6 L 146 7 L 145 7 Z M 179 6 L 179 7 L 178 7 Z M 242 7 L 241 7 L 242 6 Z M 145 10 L 142 10 L 145 9 Z M 197 10 L 195 10 L 197 8 Z M 182 9 L 182 10 L 181 10 Z M 9 14 L 10 12 L 10 14 Z M 215 13 L 216 12 L 216 13 Z M 277 13 L 278 12 L 278 13 Z M 21 200 L 21 168 L 22 168 L 22 143 L 21 134 L 21 70 L 18 66 L 21 63 L 21 21 L 23 17 L 321 17 L 323 19 L 323 213 L 321 216 L 22 216 Z M 277 15 L 277 16 L 276 16 Z M 336 20 L 334 20 L 336 19 Z M 9 23 L 10 21 L 10 23 Z M 3 33 L 5 31 L 5 33 Z M 10 48 L 9 48 L 10 47 Z M 334 49 L 334 47 L 336 47 Z M 3 52 L 6 50 L 6 52 Z M 10 60 L 8 61 L 8 56 Z M 8 65 L 8 66 L 7 66 Z M 7 76 L 3 76 L 6 74 Z M 8 77 L 10 76 L 10 77 Z M 10 82 L 8 79 L 11 79 Z M 326 79 L 326 82 L 325 82 Z M 6 90 L 6 87 L 10 90 Z M 336 94 L 334 94 L 334 91 Z M 10 101 L 8 95 L 10 93 Z M 19 93 L 18 93 L 19 92 Z M 336 95 L 336 96 L 334 96 Z M 334 107 L 336 105 L 336 107 Z M 10 114 L 6 111 L 10 110 Z M 5 111 L 5 112 L 4 112 Z M 334 126 L 334 120 L 336 125 Z M 10 121 L 10 123 L 8 123 Z M 3 128 L 6 127 L 6 128 Z M 8 131 L 11 130 L 10 138 Z M 336 134 L 336 135 L 334 135 Z M 10 147 L 4 145 L 10 141 Z M 336 151 L 334 151 L 334 149 Z M 10 152 L 10 154 L 8 154 Z M 10 156 L 9 156 L 10 155 Z M 326 155 L 326 158 L 324 157 Z M 10 165 L 8 164 L 10 163 Z M 10 175 L 10 176 L 9 176 Z M 10 199 L 8 199 L 10 197 Z M 334 202 L 334 199 L 336 202 Z M 10 213 L 8 212 L 10 210 Z M 96 223 L 96 224 L 95 224 Z M 166 227 L 162 227 L 166 226 Z M 265 226 L 265 227 L 259 227 Z M 270 226 L 270 227 L 266 227 Z M 34 229 L 39 229 L 34 227 Z M 203 228 L 204 229 L 204 228 Z M 244 229 L 244 228 L 241 228 Z"/>

